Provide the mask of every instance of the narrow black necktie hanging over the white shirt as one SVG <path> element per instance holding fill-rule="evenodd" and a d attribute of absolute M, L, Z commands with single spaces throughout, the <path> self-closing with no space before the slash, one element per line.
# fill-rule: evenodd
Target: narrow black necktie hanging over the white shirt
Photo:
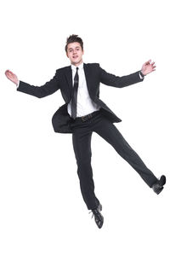
<path fill-rule="evenodd" d="M 74 87 L 72 90 L 71 117 L 73 119 L 76 119 L 77 117 L 77 90 L 78 90 L 78 67 L 77 67 L 77 73 L 74 77 Z"/>

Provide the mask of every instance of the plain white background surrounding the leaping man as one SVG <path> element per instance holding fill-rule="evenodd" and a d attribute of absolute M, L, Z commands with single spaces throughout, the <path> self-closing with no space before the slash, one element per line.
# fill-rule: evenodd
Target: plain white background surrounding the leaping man
<path fill-rule="evenodd" d="M 168 1 L 1 1 L 0 6 L 0 254 L 116 255 L 170 253 L 169 247 L 169 11 Z M 82 201 L 70 134 L 54 133 L 60 92 L 42 99 L 17 92 L 4 75 L 42 85 L 70 65 L 65 41 L 84 41 L 83 61 L 122 76 L 149 59 L 156 72 L 143 83 L 100 98 L 122 123 L 116 127 L 146 166 L 167 176 L 156 195 L 139 174 L 94 134 L 95 192 L 101 230 Z M 66 157 L 65 157 L 66 156 Z"/>

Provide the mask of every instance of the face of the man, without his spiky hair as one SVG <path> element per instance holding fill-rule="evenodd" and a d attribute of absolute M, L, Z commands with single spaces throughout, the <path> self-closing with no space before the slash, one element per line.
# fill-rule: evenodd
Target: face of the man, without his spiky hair
<path fill-rule="evenodd" d="M 66 55 L 70 59 L 71 64 L 78 66 L 82 63 L 82 55 L 84 51 L 82 50 L 81 44 L 78 42 L 70 43 L 67 45 Z"/>

